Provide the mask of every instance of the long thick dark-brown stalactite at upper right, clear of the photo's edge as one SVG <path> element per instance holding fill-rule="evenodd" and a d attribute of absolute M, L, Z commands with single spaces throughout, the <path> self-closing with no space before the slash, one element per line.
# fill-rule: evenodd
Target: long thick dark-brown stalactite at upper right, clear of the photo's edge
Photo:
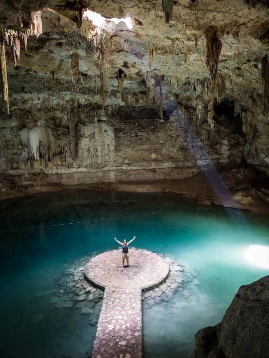
<path fill-rule="evenodd" d="M 222 44 L 217 37 L 216 29 L 210 26 L 206 31 L 206 64 L 210 69 L 213 92 L 215 91 L 217 83 L 221 47 Z"/>

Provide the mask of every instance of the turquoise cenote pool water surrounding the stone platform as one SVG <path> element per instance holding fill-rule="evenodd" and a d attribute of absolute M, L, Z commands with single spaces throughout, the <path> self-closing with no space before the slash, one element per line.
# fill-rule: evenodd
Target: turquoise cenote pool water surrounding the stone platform
<path fill-rule="evenodd" d="M 59 225 L 68 223 L 76 224 Z M 135 235 L 135 247 L 171 255 L 195 275 L 169 303 L 143 308 L 145 358 L 189 357 L 196 331 L 222 320 L 242 284 L 269 274 L 266 265 L 257 266 L 264 258 L 252 258 L 256 265 L 245 255 L 251 245 L 269 247 L 268 216 L 174 194 L 38 194 L 1 202 L 0 227 L 0 350 L 6 358 L 91 356 L 96 326 L 87 315 L 55 309 L 53 294 L 35 294 L 54 288 L 64 265 L 117 248 L 115 236 Z M 32 323 L 37 316 L 40 322 Z"/>

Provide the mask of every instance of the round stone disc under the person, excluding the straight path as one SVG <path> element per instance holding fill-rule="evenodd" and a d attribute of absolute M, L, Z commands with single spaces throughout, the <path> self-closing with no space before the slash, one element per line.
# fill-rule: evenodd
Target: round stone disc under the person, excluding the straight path
<path fill-rule="evenodd" d="M 161 282 L 169 273 L 169 265 L 159 255 L 147 250 L 129 248 L 129 264 L 122 268 L 121 250 L 113 250 L 93 258 L 85 268 L 86 277 L 107 287 L 139 286 L 140 290 Z"/>

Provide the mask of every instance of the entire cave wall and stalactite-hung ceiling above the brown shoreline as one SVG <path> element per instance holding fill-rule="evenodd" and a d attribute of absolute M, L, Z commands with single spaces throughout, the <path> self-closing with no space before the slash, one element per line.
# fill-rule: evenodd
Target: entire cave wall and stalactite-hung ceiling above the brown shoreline
<path fill-rule="evenodd" d="M 267 0 L 4 0 L 0 10 L 10 182 L 180 179 L 213 167 L 251 173 L 246 185 L 230 175 L 229 187 L 268 177 Z"/>

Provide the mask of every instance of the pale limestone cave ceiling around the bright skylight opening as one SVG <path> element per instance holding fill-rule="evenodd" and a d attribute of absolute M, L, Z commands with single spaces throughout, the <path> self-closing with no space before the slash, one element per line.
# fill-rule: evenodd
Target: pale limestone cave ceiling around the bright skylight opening
<path fill-rule="evenodd" d="M 118 41 L 113 46 L 111 40 L 98 40 L 97 50 L 103 46 L 101 55 L 107 56 L 109 52 L 106 64 L 109 90 L 118 86 L 119 69 L 125 74 L 125 89 L 130 91 L 132 86 L 137 90 L 135 83 L 145 81 L 148 73 L 161 76 L 164 84 L 177 94 L 184 83 L 195 86 L 197 79 L 210 78 L 205 32 L 211 27 L 222 42 L 218 70 L 226 85 L 223 95 L 236 99 L 245 92 L 249 95 L 245 105 L 249 105 L 254 92 L 263 93 L 261 63 L 269 52 L 266 0 L 173 1 L 169 23 L 165 23 L 161 0 L 41 0 L 38 6 L 35 1 L 26 0 L 1 2 L 0 20 L 14 29 L 19 28 L 16 27 L 19 22 L 26 28 L 31 11 L 41 9 L 42 34 L 38 38 L 29 37 L 27 53 L 21 51 L 16 67 L 11 49 L 6 46 L 7 71 L 13 76 L 11 93 L 16 88 L 16 76 L 23 75 L 27 82 L 32 81 L 30 74 L 56 76 L 65 81 L 63 90 L 70 89 L 74 52 L 80 57 L 81 83 L 87 76 L 88 85 L 95 86 L 96 78 L 102 76 L 102 59 L 100 62 L 101 55 L 93 41 L 95 27 L 82 18 L 85 8 L 107 18 L 130 16 L 133 20 L 133 29 L 123 23 L 109 23 L 110 39 Z M 26 82 L 24 87 L 29 88 Z"/>

